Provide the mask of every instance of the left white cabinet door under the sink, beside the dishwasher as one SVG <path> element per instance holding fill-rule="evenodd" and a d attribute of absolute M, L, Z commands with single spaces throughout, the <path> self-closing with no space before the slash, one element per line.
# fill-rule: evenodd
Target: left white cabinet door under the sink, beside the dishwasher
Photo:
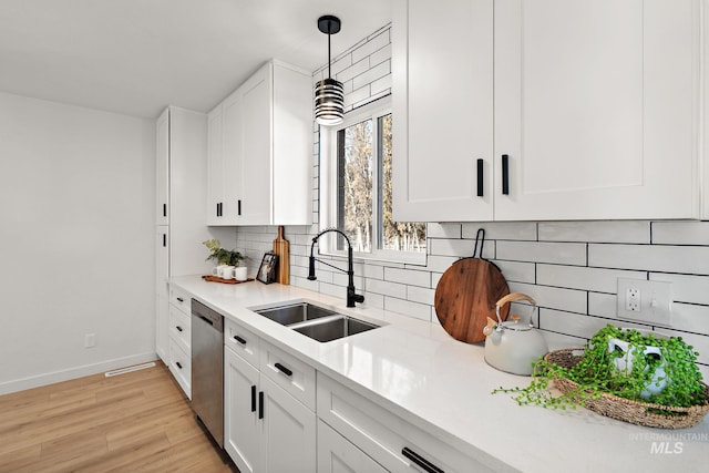
<path fill-rule="evenodd" d="M 258 370 L 224 349 L 224 449 L 242 473 L 259 466 L 263 422 L 258 419 Z"/>

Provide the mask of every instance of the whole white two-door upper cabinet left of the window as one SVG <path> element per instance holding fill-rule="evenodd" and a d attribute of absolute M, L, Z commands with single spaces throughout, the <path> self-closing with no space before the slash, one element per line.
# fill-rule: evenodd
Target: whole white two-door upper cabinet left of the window
<path fill-rule="evenodd" d="M 209 113 L 208 225 L 312 222 L 311 92 L 270 61 Z"/>

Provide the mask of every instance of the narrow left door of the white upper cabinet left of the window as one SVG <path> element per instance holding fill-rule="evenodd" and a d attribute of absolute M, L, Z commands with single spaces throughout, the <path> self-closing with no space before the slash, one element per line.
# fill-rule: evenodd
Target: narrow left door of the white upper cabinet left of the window
<path fill-rule="evenodd" d="M 219 225 L 224 206 L 223 116 L 218 105 L 207 117 L 207 225 Z"/>

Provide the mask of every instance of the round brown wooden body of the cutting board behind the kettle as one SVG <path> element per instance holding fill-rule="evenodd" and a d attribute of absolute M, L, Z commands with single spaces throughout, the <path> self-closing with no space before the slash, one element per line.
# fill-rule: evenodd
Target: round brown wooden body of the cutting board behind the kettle
<path fill-rule="evenodd" d="M 476 343 L 485 340 L 487 317 L 497 319 L 495 302 L 507 294 L 507 281 L 494 264 L 463 258 L 443 273 L 435 287 L 435 315 L 451 337 Z M 508 311 L 508 305 L 501 309 L 503 320 Z"/>

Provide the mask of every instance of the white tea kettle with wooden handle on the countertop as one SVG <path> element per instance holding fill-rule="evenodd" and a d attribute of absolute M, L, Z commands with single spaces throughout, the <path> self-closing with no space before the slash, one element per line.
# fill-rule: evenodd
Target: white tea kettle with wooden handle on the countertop
<path fill-rule="evenodd" d="M 526 300 L 532 304 L 530 317 L 523 320 L 511 315 L 502 321 L 500 309 L 505 304 Z M 532 374 L 532 363 L 548 351 L 542 332 L 532 326 L 532 316 L 537 310 L 536 301 L 522 292 L 512 292 L 495 304 L 497 321 L 487 317 L 483 329 L 485 338 L 485 361 L 493 368 L 513 374 Z"/>

